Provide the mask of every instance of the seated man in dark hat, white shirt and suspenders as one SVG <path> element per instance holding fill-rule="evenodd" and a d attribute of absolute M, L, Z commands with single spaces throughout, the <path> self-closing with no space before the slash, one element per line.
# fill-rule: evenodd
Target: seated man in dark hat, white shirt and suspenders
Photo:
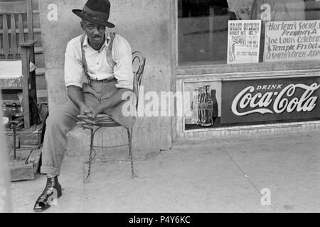
<path fill-rule="evenodd" d="M 35 211 L 48 209 L 53 194 L 62 195 L 58 176 L 67 133 L 80 121 L 79 115 L 95 118 L 108 114 L 126 128 L 134 123 L 134 117 L 122 115 L 123 104 L 133 95 L 132 51 L 127 40 L 106 32 L 106 27 L 114 27 L 108 21 L 110 2 L 88 0 L 82 10 L 73 13 L 82 18 L 85 35 L 70 40 L 65 52 L 65 86 L 70 100 L 50 112 L 46 121 L 41 172 L 47 174 L 47 184 Z"/>

